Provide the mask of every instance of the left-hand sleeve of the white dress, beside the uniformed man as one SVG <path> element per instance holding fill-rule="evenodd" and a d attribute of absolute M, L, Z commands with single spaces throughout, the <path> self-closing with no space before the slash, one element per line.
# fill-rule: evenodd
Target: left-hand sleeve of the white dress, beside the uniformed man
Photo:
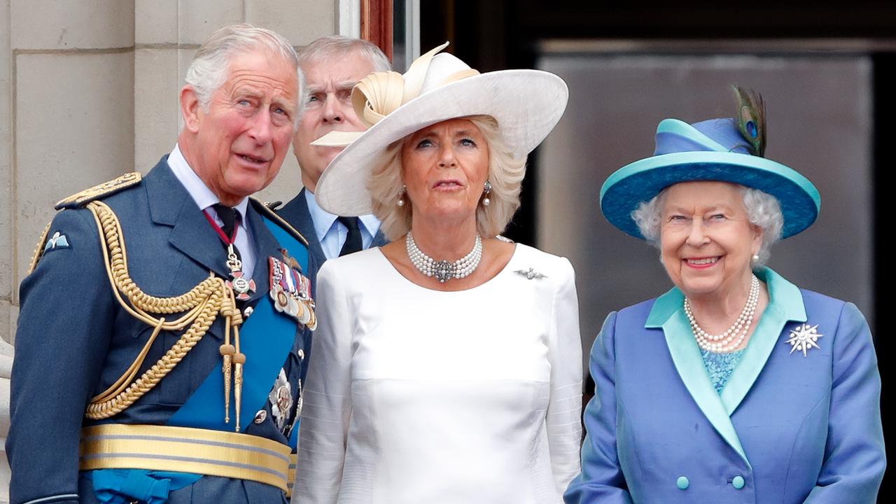
<path fill-rule="evenodd" d="M 345 284 L 332 261 L 317 274 L 317 329 L 303 387 L 293 501 L 339 498 L 351 415 L 351 327 Z"/>

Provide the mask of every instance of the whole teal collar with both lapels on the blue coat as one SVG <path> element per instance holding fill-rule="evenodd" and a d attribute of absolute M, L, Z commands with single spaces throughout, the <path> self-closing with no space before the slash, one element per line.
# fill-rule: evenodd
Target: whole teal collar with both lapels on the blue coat
<path fill-rule="evenodd" d="M 644 323 L 644 327 L 649 329 L 662 328 L 672 361 L 688 393 L 694 397 L 694 401 L 719 435 L 737 451 L 747 465 L 750 461 L 746 458 L 744 448 L 737 437 L 737 431 L 731 422 L 731 414 L 735 412 L 750 387 L 753 387 L 788 321 L 806 322 L 806 306 L 796 285 L 788 282 L 771 268 L 762 268 L 755 274 L 765 282 L 769 290 L 769 304 L 762 312 L 744 355 L 721 395 L 712 387 L 700 348 L 685 317 L 685 295 L 678 288 L 673 288 L 657 298 Z"/>

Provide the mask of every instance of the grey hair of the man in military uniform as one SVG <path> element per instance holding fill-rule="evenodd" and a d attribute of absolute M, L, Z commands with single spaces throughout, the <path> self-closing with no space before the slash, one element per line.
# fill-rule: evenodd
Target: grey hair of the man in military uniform
<path fill-rule="evenodd" d="M 275 31 L 248 23 L 231 24 L 214 30 L 196 51 L 186 70 L 186 83 L 193 87 L 199 106 L 209 110 L 211 95 L 227 80 L 230 59 L 240 53 L 263 47 L 298 68 L 298 55 L 289 40 Z"/>

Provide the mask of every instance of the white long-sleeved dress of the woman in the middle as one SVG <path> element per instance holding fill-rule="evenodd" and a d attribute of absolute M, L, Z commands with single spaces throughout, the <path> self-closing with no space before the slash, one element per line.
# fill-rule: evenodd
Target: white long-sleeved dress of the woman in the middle
<path fill-rule="evenodd" d="M 445 292 L 372 248 L 317 279 L 297 502 L 562 502 L 582 435 L 566 259 L 517 245 L 492 280 Z"/>

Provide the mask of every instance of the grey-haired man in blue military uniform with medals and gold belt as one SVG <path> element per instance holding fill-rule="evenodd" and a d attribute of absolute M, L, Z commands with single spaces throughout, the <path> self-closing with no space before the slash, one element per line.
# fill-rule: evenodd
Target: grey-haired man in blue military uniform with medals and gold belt
<path fill-rule="evenodd" d="M 57 205 L 22 282 L 15 504 L 286 501 L 307 243 L 248 196 L 289 152 L 296 71 L 274 32 L 216 31 L 174 150 Z"/>

